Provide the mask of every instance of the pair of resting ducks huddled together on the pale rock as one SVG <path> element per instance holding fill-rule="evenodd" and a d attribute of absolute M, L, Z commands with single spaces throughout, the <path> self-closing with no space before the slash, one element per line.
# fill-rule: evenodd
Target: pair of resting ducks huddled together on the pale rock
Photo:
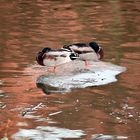
<path fill-rule="evenodd" d="M 76 43 L 65 45 L 59 50 L 44 48 L 37 54 L 36 60 L 42 66 L 54 67 L 61 64 L 80 59 L 85 62 L 97 61 L 103 58 L 103 49 L 96 43 Z"/>

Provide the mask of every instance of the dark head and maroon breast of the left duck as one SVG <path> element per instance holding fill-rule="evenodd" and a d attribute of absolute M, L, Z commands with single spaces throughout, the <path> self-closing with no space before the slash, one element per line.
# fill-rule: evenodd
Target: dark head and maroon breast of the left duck
<path fill-rule="evenodd" d="M 48 53 L 48 52 L 50 52 L 51 51 L 51 48 L 48 48 L 48 47 L 45 47 L 41 52 L 39 52 L 38 54 L 37 54 L 37 56 L 36 56 L 36 61 L 37 61 L 37 63 L 38 64 L 40 64 L 40 65 L 42 65 L 42 66 L 44 66 L 44 64 L 43 64 L 43 59 L 44 59 L 44 57 L 45 57 L 45 53 Z"/>

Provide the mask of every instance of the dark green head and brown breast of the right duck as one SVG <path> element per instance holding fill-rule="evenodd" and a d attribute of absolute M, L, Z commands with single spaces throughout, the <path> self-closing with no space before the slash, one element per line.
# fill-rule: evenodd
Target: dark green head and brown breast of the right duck
<path fill-rule="evenodd" d="M 97 53 L 97 55 L 99 55 L 99 59 L 103 59 L 103 49 L 96 42 L 90 42 L 89 46 Z"/>

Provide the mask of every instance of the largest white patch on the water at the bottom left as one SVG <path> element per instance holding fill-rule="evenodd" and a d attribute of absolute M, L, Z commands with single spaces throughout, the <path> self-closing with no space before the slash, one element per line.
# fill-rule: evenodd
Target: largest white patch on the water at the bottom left
<path fill-rule="evenodd" d="M 62 140 L 64 138 L 80 138 L 84 133 L 82 130 L 69 130 L 50 126 L 38 126 L 36 129 L 21 129 L 13 138 L 29 138 L 34 140 Z"/>

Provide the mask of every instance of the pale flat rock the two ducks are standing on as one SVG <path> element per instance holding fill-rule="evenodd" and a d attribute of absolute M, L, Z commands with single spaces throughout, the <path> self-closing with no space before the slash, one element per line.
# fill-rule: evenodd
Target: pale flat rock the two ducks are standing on
<path fill-rule="evenodd" d="M 115 76 L 125 71 L 124 67 L 101 61 L 89 62 L 88 68 L 85 68 L 83 62 L 78 60 L 60 67 L 61 69 L 57 68 L 54 74 L 44 72 L 43 68 L 44 75 L 41 74 L 37 78 L 37 87 L 41 88 L 45 93 L 70 92 L 74 88 L 101 86 L 115 82 L 117 81 Z M 35 73 L 37 73 L 36 69 Z M 41 73 L 41 68 L 38 73 Z"/>

